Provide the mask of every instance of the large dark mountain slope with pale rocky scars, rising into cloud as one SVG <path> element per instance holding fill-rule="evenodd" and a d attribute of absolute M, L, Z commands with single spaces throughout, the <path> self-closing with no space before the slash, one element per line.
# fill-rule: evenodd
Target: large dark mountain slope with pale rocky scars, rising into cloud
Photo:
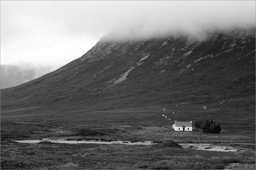
<path fill-rule="evenodd" d="M 249 128 L 241 133 L 255 135 L 255 28 L 204 35 L 109 34 L 56 71 L 2 89 L 1 115 L 63 113 L 78 122 L 76 112 L 90 117 L 101 111 L 100 117 L 112 114 L 119 123 L 161 125 L 158 118 L 166 114 L 172 121 L 213 119 L 228 133 Z"/>

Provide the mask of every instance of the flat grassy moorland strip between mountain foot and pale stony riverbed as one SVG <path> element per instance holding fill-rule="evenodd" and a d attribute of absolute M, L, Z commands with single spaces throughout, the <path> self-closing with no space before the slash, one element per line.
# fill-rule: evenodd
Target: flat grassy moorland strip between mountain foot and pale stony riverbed
<path fill-rule="evenodd" d="M 29 113 L 30 110 L 36 114 Z M 180 120 L 179 117 L 165 113 L 161 108 L 85 110 L 72 114 L 30 110 L 20 110 L 20 114 L 16 111 L 1 113 L 1 139 L 104 138 L 173 140 L 177 143 L 255 143 L 255 131 L 244 131 L 237 126 L 230 130 L 229 124 L 225 125 L 224 121 L 220 122 L 223 129 L 221 134 L 202 134 L 195 128 L 192 132 L 176 132 L 172 129 L 172 120 Z M 164 118 L 162 114 L 172 120 Z"/>

